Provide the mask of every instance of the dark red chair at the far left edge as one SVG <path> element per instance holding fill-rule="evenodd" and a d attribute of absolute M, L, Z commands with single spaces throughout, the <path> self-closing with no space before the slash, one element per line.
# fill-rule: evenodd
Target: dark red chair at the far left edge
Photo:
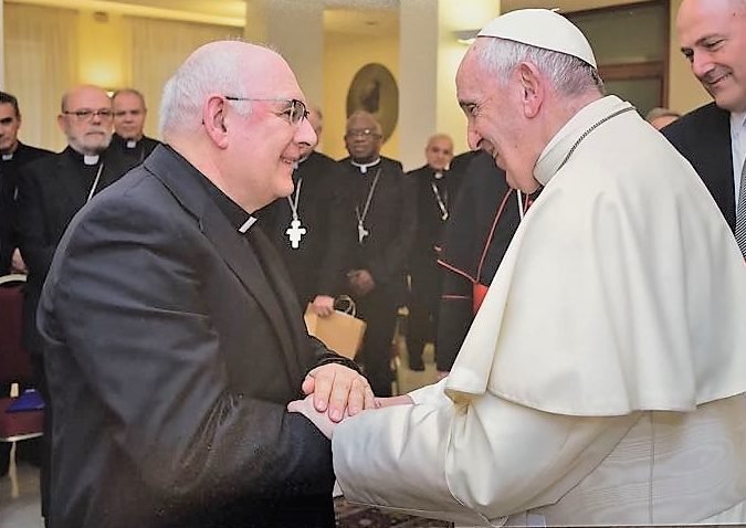
<path fill-rule="evenodd" d="M 0 277 L 0 384 L 11 386 L 17 395 L 18 384 L 32 381 L 31 359 L 21 346 L 21 310 L 25 275 Z M 43 434 L 44 411 L 6 412 L 15 398 L 0 398 L 0 442 L 19 442 Z"/>

